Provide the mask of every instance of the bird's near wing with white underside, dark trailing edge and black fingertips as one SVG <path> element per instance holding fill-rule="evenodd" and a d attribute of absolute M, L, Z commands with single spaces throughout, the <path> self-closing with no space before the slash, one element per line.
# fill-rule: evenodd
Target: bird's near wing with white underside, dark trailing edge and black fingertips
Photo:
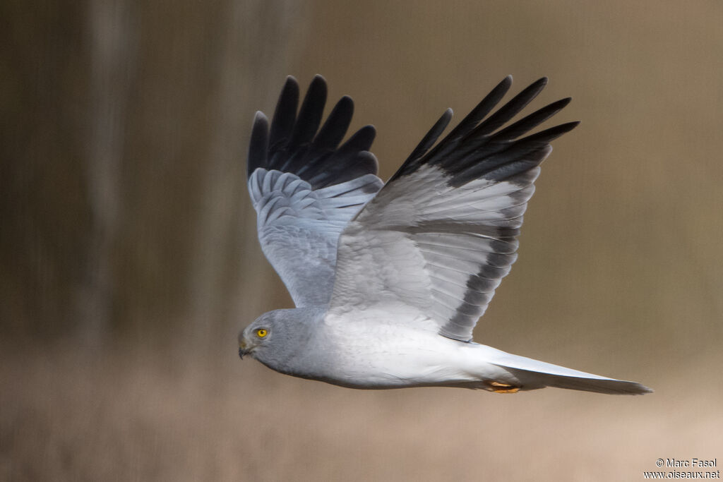
<path fill-rule="evenodd" d="M 502 128 L 546 83 L 539 79 L 488 116 L 512 84 L 505 78 L 429 150 L 452 113 L 442 115 L 341 234 L 330 316 L 401 303 L 425 314 L 441 335 L 471 340 L 517 256 L 522 215 L 549 142 L 578 124 L 523 137 L 567 98 Z"/>

